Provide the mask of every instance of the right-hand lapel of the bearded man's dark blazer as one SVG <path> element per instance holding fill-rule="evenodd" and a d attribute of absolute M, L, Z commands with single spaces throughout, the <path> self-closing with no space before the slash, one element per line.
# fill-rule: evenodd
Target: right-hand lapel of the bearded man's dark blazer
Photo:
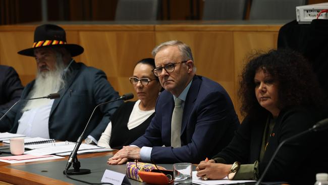
<path fill-rule="evenodd" d="M 64 95 L 67 93 L 69 87 L 72 85 L 73 81 L 76 79 L 77 74 L 80 72 L 80 66 L 74 61 L 71 66 L 71 74 L 66 77 L 65 81 L 65 88 L 61 89 L 58 91 L 58 93 L 61 95 L 59 99 L 55 99 L 53 101 L 51 111 L 50 111 L 50 116 L 52 115 L 53 111 L 57 108 L 58 104 L 61 102 L 63 99 Z"/>

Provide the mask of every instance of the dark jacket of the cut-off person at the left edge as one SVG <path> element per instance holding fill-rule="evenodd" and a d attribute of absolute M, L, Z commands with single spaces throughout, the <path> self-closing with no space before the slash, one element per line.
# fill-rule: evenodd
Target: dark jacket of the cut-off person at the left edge
<path fill-rule="evenodd" d="M 0 65 L 0 111 L 17 102 L 21 98 L 23 88 L 15 69 Z"/>

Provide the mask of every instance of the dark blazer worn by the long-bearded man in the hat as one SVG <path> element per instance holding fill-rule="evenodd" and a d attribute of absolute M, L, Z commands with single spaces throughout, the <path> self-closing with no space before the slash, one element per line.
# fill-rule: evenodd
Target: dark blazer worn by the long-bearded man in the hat
<path fill-rule="evenodd" d="M 59 91 L 61 97 L 54 100 L 51 107 L 49 136 L 60 141 L 76 142 L 95 106 L 120 97 L 108 83 L 103 71 L 87 67 L 83 63 L 73 62 L 65 81 L 65 88 Z M 34 80 L 27 84 L 23 90 L 22 99 L 28 97 L 33 85 Z M 122 103 L 122 101 L 116 101 L 99 106 L 89 122 L 84 137 L 91 135 L 98 140 L 110 122 L 111 116 Z M 10 132 L 16 133 L 24 106 L 25 104 L 16 106 L 0 122 L 0 130 L 10 129 Z"/>

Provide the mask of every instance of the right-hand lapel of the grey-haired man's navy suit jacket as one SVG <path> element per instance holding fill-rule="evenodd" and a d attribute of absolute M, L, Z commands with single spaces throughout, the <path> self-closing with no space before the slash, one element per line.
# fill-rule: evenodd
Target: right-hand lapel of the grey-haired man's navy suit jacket
<path fill-rule="evenodd" d="M 194 103 L 198 96 L 198 91 L 200 88 L 202 80 L 199 76 L 194 76 L 190 88 L 187 93 L 185 105 L 183 108 L 182 124 L 181 124 L 181 135 L 185 131 L 188 123 L 188 119 L 191 113 L 191 110 L 194 108 Z"/>

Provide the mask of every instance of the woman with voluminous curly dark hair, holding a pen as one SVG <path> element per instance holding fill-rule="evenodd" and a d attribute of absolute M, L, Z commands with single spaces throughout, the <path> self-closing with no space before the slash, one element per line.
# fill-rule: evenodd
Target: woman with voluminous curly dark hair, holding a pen
<path fill-rule="evenodd" d="M 325 99 L 311 66 L 290 50 L 251 59 L 241 75 L 239 96 L 246 117 L 232 142 L 196 168 L 205 180 L 257 180 L 282 141 L 324 118 Z M 324 133 L 311 133 L 285 143 L 264 180 L 313 184 L 316 173 L 328 172 L 327 141 Z"/>

